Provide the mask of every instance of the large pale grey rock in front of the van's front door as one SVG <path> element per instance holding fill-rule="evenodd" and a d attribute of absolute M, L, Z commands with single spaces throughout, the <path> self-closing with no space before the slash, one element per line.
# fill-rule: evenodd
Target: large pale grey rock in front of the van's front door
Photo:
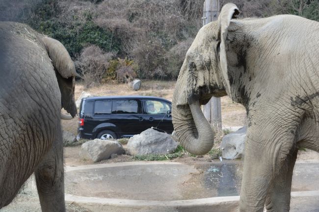
<path fill-rule="evenodd" d="M 147 129 L 130 138 L 127 149 L 131 155 L 172 153 L 178 143 L 167 133 Z"/>

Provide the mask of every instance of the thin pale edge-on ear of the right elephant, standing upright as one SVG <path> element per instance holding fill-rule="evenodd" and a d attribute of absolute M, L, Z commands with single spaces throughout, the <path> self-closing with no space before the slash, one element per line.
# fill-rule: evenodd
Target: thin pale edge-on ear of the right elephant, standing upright
<path fill-rule="evenodd" d="M 232 94 L 230 92 L 230 82 L 228 78 L 228 71 L 227 71 L 227 56 L 226 56 L 226 37 L 228 26 L 230 24 L 231 19 L 237 18 L 239 15 L 238 7 L 233 3 L 228 3 L 223 6 L 220 11 L 218 17 L 218 28 L 219 28 L 219 37 L 220 37 L 220 66 L 221 71 L 223 73 L 223 77 L 226 83 L 226 91 L 230 98 L 232 98 Z"/>

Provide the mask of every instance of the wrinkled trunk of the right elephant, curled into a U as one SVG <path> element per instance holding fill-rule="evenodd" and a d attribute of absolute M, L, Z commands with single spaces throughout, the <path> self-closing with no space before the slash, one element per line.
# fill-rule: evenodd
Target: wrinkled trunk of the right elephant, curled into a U
<path fill-rule="evenodd" d="M 177 99 L 175 96 L 173 99 Z M 183 147 L 195 155 L 208 153 L 214 143 L 214 133 L 195 96 L 188 98 L 188 105 L 172 104 L 172 118 L 176 136 Z"/>

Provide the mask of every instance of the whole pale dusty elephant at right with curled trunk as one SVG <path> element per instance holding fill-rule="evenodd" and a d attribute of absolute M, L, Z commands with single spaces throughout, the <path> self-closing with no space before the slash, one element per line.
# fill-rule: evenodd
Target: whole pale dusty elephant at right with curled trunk
<path fill-rule="evenodd" d="M 229 95 L 246 108 L 241 212 L 288 212 L 299 147 L 319 151 L 319 23 L 292 15 L 234 19 L 226 4 L 188 49 L 173 96 L 176 135 L 191 153 L 213 146 L 200 105 Z"/>

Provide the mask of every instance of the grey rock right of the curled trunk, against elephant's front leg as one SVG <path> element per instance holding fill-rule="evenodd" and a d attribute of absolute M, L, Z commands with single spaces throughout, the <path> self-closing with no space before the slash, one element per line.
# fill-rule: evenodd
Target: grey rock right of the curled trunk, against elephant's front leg
<path fill-rule="evenodd" d="M 241 127 L 234 133 L 226 135 L 220 144 L 222 157 L 224 159 L 237 159 L 243 158 L 245 149 L 247 127 Z"/>

